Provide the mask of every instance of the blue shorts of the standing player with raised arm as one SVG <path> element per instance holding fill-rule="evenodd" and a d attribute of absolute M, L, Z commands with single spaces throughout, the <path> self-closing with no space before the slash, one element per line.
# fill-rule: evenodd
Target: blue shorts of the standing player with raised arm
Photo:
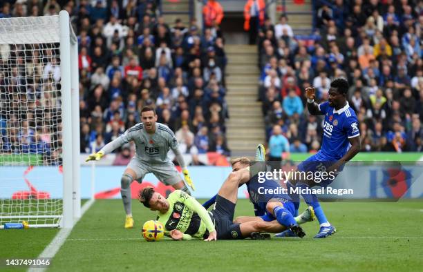
<path fill-rule="evenodd" d="M 301 162 L 301 164 L 298 165 L 298 171 L 314 173 L 314 182 L 316 182 L 315 185 L 326 187 L 335 180 L 336 176 L 323 178 L 321 176 L 317 176 L 316 173 L 325 172 L 326 169 L 332 164 L 335 164 L 335 162 L 337 162 L 336 159 L 328 159 L 318 152 L 306 159 L 304 162 Z"/>

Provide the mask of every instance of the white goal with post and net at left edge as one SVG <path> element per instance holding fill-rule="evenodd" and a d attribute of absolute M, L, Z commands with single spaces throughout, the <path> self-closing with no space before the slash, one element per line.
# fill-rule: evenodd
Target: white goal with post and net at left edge
<path fill-rule="evenodd" d="M 77 56 L 66 11 L 0 19 L 0 229 L 81 216 Z"/>

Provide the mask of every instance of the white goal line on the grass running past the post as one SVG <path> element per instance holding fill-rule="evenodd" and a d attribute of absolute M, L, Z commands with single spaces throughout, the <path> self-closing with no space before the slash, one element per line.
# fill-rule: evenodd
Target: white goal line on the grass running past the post
<path fill-rule="evenodd" d="M 88 200 L 88 202 L 86 202 L 84 204 L 84 206 L 82 206 L 82 208 L 81 208 L 81 217 L 79 217 L 76 220 L 74 226 L 77 224 L 77 222 L 79 221 L 79 219 L 82 218 L 82 215 L 84 215 L 84 213 L 86 211 L 88 211 L 88 208 L 90 208 L 91 205 L 93 205 L 93 203 L 94 203 L 94 200 Z M 53 259 L 53 257 L 55 257 L 55 255 L 56 255 L 57 251 L 59 251 L 60 247 L 66 241 L 66 238 L 69 236 L 69 234 L 71 234 L 72 229 L 61 229 L 59 231 L 59 233 L 57 233 L 57 235 L 50 242 L 50 244 L 48 244 L 48 246 L 46 246 L 46 249 L 44 249 L 44 251 L 41 252 L 41 254 L 38 256 L 38 258 L 51 258 L 51 259 Z M 30 269 L 28 269 L 28 272 L 46 271 L 46 269 L 47 268 L 30 268 Z"/>

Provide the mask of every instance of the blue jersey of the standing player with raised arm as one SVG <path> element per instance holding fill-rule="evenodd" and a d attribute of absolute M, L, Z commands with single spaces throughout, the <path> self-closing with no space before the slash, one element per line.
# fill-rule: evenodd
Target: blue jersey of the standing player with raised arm
<path fill-rule="evenodd" d="M 348 102 L 344 108 L 335 110 L 326 101 L 319 104 L 319 110 L 325 115 L 319 153 L 328 161 L 341 159 L 350 147 L 348 139 L 360 135 L 357 116 Z"/>

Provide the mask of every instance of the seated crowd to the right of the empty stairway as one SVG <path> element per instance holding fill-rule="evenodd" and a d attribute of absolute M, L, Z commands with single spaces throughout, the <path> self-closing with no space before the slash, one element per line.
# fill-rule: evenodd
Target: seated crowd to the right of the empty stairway
<path fill-rule="evenodd" d="M 323 118 L 305 110 L 305 89 L 314 86 L 326 101 L 336 77 L 349 81 L 362 151 L 421 152 L 423 1 L 316 3 L 316 39 L 295 37 L 284 14 L 260 26 L 259 99 L 271 157 L 319 150 Z"/>

